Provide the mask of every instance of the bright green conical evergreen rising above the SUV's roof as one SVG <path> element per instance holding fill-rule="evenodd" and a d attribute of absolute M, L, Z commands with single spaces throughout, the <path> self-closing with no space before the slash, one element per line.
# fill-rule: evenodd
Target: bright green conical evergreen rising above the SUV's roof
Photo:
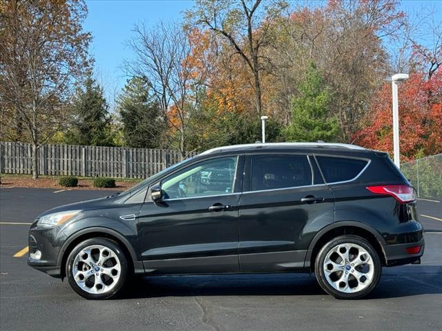
<path fill-rule="evenodd" d="M 285 138 L 289 141 L 334 141 L 339 126 L 329 110 L 332 93 L 313 63 L 298 91 L 300 96 L 291 99 L 291 123 L 285 128 Z"/>

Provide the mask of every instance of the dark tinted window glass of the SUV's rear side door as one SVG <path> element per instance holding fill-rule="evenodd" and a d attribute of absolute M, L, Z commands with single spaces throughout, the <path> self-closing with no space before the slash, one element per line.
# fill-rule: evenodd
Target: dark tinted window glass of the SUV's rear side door
<path fill-rule="evenodd" d="M 253 155 L 251 190 L 272 190 L 311 185 L 311 170 L 305 155 Z"/>

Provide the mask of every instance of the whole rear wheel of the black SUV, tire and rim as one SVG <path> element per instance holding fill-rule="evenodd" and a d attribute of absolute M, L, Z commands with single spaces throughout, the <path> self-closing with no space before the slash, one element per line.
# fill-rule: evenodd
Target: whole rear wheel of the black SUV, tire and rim
<path fill-rule="evenodd" d="M 378 285 L 381 270 L 381 261 L 372 245 L 350 234 L 326 243 L 315 263 L 320 287 L 337 299 L 365 297 Z"/>

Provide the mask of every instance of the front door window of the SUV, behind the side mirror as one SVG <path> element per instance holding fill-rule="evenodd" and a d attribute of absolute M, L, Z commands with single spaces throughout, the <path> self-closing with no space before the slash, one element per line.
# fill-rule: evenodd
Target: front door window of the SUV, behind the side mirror
<path fill-rule="evenodd" d="M 202 161 L 163 181 L 165 199 L 206 197 L 233 192 L 238 157 Z"/>

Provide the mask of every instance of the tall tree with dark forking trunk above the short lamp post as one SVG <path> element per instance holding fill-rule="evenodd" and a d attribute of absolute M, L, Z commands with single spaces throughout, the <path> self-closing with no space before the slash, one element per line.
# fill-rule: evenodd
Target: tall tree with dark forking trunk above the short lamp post
<path fill-rule="evenodd" d="M 271 64 L 263 50 L 271 46 L 271 27 L 287 8 L 285 1 L 198 0 L 187 12 L 189 21 L 202 25 L 226 39 L 253 75 L 256 112 L 262 114 L 261 72 Z"/>

